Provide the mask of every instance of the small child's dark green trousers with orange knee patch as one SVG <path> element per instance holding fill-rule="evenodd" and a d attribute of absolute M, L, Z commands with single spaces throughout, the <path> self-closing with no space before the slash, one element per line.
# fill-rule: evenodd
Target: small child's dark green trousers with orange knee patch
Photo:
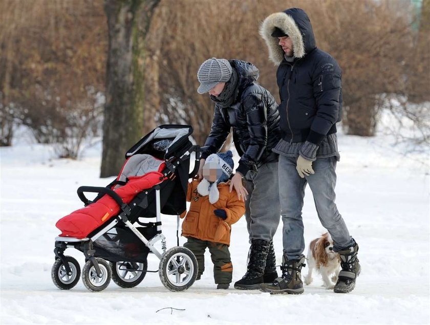
<path fill-rule="evenodd" d="M 184 244 L 184 247 L 196 255 L 199 266 L 198 276 L 202 275 L 205 270 L 204 254 L 206 247 L 208 247 L 213 263 L 213 278 L 215 279 L 215 283 L 231 283 L 233 265 L 231 264 L 230 251 L 227 245 L 188 237 L 188 241 Z"/>

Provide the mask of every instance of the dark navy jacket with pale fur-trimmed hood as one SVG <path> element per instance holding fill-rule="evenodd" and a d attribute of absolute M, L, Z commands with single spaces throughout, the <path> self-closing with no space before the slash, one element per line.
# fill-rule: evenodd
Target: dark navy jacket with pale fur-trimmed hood
<path fill-rule="evenodd" d="M 292 39 L 293 62 L 284 58 L 278 40 L 270 36 L 274 27 Z M 341 70 L 336 60 L 316 48 L 311 22 L 302 9 L 291 8 L 268 16 L 261 34 L 271 59 L 279 64 L 276 77 L 282 138 L 318 145 L 328 134 L 336 132 L 336 122 L 341 120 Z"/>

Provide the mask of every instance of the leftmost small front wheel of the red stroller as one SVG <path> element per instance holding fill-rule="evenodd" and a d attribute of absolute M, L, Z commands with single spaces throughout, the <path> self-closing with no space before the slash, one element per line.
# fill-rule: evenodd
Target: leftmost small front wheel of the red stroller
<path fill-rule="evenodd" d="M 66 267 L 60 258 L 55 260 L 51 269 L 51 277 L 54 285 L 62 290 L 72 289 L 79 281 L 80 266 L 78 261 L 72 256 L 65 256 L 66 261 L 69 263 L 71 274 L 67 274 Z"/>

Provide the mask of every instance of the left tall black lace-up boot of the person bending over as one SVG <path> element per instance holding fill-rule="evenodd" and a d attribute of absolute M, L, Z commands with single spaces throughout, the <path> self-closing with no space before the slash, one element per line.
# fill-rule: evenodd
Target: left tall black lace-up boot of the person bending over
<path fill-rule="evenodd" d="M 241 280 L 234 284 L 235 289 L 260 289 L 264 281 L 264 270 L 270 241 L 252 240 L 248 256 L 248 269 Z"/>

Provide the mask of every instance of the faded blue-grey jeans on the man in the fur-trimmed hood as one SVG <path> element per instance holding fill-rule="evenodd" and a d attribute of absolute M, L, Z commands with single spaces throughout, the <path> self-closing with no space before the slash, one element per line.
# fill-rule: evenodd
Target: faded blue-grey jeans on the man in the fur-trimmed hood
<path fill-rule="evenodd" d="M 315 174 L 300 178 L 296 170 L 297 158 L 279 156 L 279 198 L 284 223 L 283 245 L 288 259 L 296 259 L 305 250 L 302 220 L 305 187 L 309 183 L 316 213 L 328 230 L 339 251 L 354 244 L 348 228 L 334 203 L 336 194 L 336 157 L 319 158 L 312 163 Z"/>

